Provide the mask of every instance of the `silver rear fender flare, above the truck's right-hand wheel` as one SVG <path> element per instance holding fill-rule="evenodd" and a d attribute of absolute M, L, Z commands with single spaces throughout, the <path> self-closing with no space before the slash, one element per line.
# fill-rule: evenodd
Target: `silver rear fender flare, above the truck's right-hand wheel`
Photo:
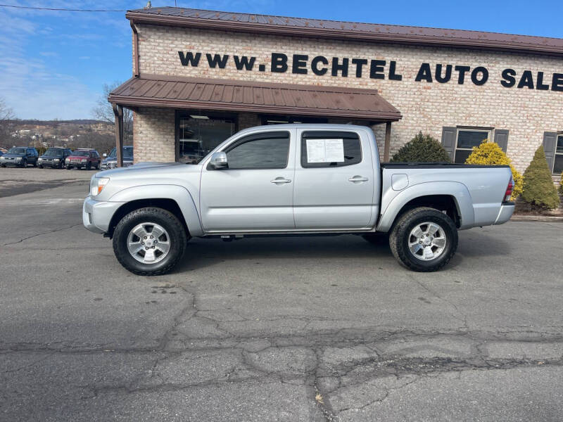
<path fill-rule="evenodd" d="M 400 210 L 411 200 L 420 198 L 421 196 L 434 195 L 453 197 L 457 212 L 462 221 L 460 229 L 473 226 L 475 214 L 473 201 L 467 186 L 458 181 L 429 181 L 409 186 L 393 198 L 386 209 L 381 212 L 381 219 L 379 220 L 379 224 L 377 224 L 377 231 L 389 231 Z"/>

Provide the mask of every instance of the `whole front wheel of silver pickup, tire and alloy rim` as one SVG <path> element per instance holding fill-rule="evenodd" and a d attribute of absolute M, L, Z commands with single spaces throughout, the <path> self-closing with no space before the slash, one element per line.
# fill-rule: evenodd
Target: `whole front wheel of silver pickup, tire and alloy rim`
<path fill-rule="evenodd" d="M 186 242 L 186 230 L 179 219 L 157 207 L 129 212 L 113 232 L 115 257 L 139 276 L 166 274 L 184 255 Z"/>

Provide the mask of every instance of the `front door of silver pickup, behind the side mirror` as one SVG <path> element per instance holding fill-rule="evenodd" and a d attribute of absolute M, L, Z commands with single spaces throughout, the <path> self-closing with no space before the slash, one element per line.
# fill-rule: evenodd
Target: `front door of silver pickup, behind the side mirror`
<path fill-rule="evenodd" d="M 224 146 L 226 168 L 217 170 L 204 163 L 203 229 L 222 233 L 295 229 L 295 145 L 295 129 L 265 130 Z"/>

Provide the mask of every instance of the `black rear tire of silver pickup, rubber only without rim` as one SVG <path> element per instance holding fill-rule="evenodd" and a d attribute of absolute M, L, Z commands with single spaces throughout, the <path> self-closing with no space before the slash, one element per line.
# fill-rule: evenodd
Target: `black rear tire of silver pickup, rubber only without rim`
<path fill-rule="evenodd" d="M 423 222 L 435 222 L 443 229 L 446 238 L 446 244 L 441 255 L 434 260 L 419 260 L 413 256 L 408 248 L 410 231 L 417 224 Z M 438 271 L 448 264 L 455 255 L 457 250 L 457 228 L 455 223 L 448 215 L 429 207 L 417 207 L 408 210 L 398 217 L 389 234 L 389 246 L 393 256 L 398 262 L 412 271 L 430 272 Z"/>

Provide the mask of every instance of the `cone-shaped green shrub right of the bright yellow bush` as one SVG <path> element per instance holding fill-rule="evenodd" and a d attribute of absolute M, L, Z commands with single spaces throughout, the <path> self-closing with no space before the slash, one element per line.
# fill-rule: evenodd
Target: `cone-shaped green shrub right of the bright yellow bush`
<path fill-rule="evenodd" d="M 532 162 L 524 172 L 522 199 L 536 207 L 552 210 L 559 206 L 559 195 L 553 184 L 543 146 L 537 149 Z"/>

